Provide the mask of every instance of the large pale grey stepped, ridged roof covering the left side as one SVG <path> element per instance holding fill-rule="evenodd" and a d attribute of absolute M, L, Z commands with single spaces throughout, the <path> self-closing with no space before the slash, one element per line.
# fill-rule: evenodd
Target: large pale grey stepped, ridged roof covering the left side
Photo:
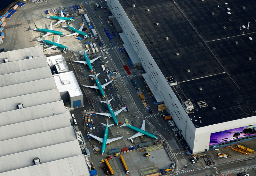
<path fill-rule="evenodd" d="M 0 176 L 89 176 L 41 46 L 1 53 L 0 80 Z"/>

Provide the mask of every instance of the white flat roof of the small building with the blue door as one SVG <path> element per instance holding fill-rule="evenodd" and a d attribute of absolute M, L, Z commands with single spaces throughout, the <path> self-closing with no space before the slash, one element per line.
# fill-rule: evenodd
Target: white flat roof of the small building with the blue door
<path fill-rule="evenodd" d="M 53 75 L 60 92 L 69 93 L 70 97 L 83 95 L 73 71 Z"/>

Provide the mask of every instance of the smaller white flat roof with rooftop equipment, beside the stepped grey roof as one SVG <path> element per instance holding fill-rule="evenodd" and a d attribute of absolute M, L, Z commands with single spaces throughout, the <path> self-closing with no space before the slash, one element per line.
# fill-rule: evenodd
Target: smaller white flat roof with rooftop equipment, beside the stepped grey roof
<path fill-rule="evenodd" d="M 47 57 L 49 66 L 55 66 L 57 73 L 68 71 L 68 66 L 62 55 L 54 55 Z"/>

